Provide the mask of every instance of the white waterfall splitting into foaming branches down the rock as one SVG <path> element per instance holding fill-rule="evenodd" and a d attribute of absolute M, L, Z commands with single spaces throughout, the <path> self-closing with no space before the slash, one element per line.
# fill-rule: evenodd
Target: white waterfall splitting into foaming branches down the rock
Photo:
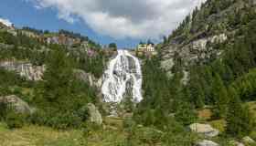
<path fill-rule="evenodd" d="M 140 102 L 143 97 L 142 70 L 140 61 L 127 50 L 118 50 L 109 67 L 104 72 L 101 92 L 105 102 L 119 103 L 131 92 L 133 102 Z"/>

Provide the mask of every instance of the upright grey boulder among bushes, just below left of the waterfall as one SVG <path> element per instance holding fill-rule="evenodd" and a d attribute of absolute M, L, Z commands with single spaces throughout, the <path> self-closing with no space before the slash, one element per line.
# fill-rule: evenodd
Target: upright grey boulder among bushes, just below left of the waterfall
<path fill-rule="evenodd" d="M 94 106 L 94 104 L 92 104 L 92 103 L 89 103 L 87 105 L 87 108 L 89 110 L 90 121 L 92 123 L 97 124 L 97 125 L 101 125 L 102 124 L 102 118 L 101 118 L 100 111 L 97 110 L 96 107 Z"/>

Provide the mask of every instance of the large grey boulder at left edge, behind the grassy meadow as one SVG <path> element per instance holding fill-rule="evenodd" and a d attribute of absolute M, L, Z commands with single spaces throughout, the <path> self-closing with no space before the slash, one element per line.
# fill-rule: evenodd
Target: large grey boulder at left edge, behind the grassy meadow
<path fill-rule="evenodd" d="M 32 114 L 33 110 L 28 106 L 27 102 L 19 99 L 15 95 L 0 97 L 0 103 L 6 104 L 8 107 L 16 110 L 17 113 Z"/>

